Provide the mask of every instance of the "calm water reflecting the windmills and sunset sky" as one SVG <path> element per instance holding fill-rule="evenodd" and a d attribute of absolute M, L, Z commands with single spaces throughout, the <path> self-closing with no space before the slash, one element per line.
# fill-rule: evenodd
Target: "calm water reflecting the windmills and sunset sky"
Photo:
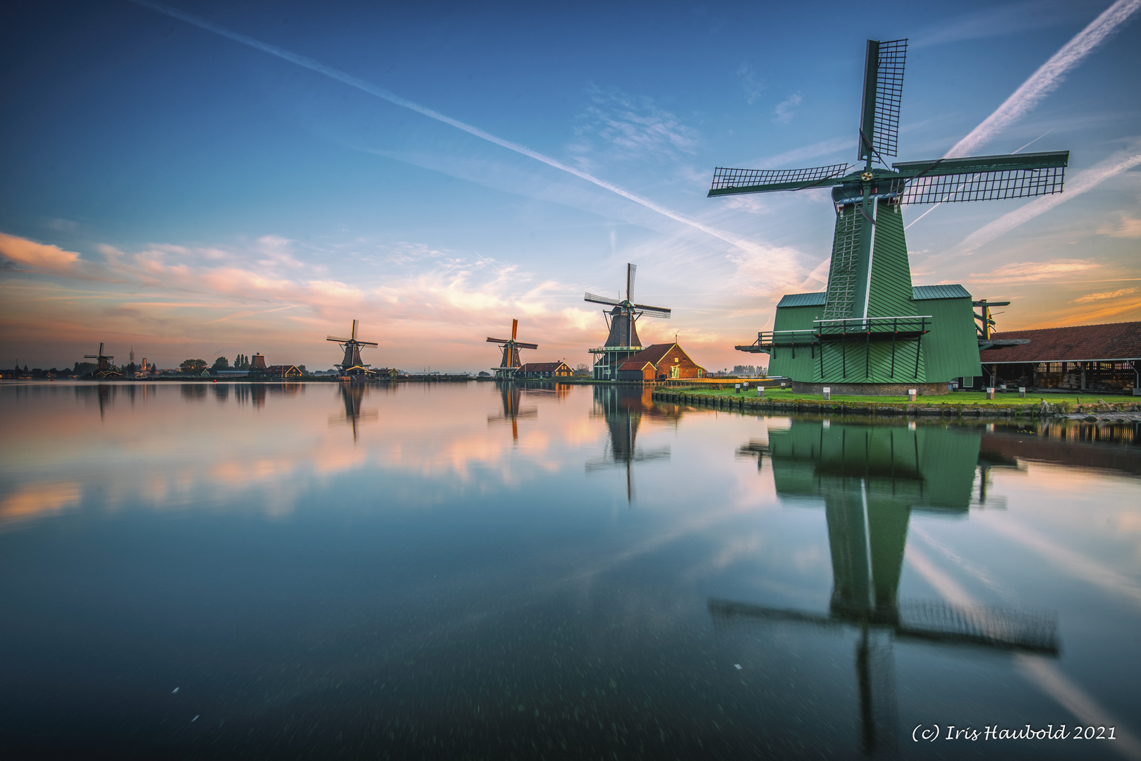
<path fill-rule="evenodd" d="M 0 411 L 3 758 L 1141 758 L 1132 426 L 494 383 Z M 1070 737 L 942 739 L 1027 723 Z"/>

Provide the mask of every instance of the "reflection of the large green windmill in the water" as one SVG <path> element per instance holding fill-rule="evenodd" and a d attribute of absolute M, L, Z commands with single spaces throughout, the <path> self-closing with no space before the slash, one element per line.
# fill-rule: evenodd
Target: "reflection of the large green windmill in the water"
<path fill-rule="evenodd" d="M 968 645 L 1058 655 L 1057 618 L 1046 612 L 941 600 L 897 599 L 913 511 L 965 513 L 972 504 L 981 435 L 942 427 L 830 424 L 794 420 L 751 442 L 738 454 L 766 455 L 783 502 L 824 500 L 832 556 L 827 615 L 710 599 L 714 628 L 786 622 L 842 630 L 856 628 L 861 746 L 892 754 L 898 738 L 893 641 Z"/>

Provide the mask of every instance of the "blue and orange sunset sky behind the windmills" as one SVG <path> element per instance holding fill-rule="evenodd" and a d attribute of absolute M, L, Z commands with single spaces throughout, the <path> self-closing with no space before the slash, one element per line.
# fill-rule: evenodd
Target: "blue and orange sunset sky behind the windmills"
<path fill-rule="evenodd" d="M 911 40 L 898 160 L 939 157 L 1110 5 L 170 6 L 211 31 L 126 0 L 9 3 L 0 365 L 105 341 L 327 367 L 324 335 L 358 318 L 373 364 L 477 370 L 512 317 L 532 359 L 577 364 L 605 339 L 582 292 L 617 296 L 626 261 L 637 300 L 674 310 L 644 342 L 752 362 L 731 347 L 779 296 L 823 289 L 832 211 L 826 191 L 706 199 L 713 167 L 855 162 L 867 38 Z M 908 208 L 916 284 L 1013 300 L 1001 327 L 1141 319 L 1125 16 L 971 151 L 1069 149 L 1078 192 Z"/>

